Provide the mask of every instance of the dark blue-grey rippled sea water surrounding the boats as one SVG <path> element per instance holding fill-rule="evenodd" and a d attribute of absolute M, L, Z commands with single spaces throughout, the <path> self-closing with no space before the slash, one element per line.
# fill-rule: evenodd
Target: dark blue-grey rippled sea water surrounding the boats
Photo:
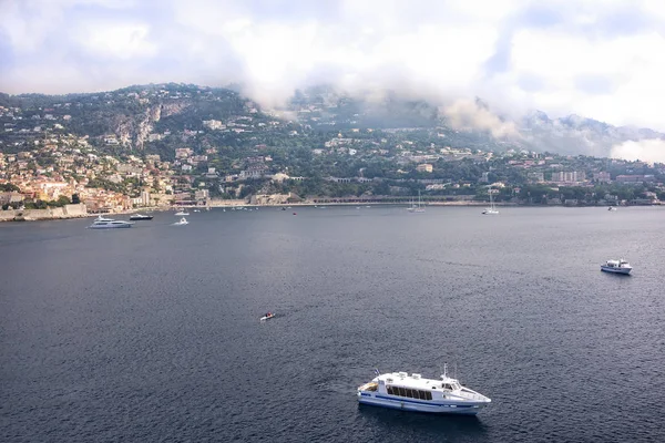
<path fill-rule="evenodd" d="M 664 442 L 665 207 L 481 209 L 1 224 L 0 441 Z M 358 404 L 444 367 L 492 403 Z"/>

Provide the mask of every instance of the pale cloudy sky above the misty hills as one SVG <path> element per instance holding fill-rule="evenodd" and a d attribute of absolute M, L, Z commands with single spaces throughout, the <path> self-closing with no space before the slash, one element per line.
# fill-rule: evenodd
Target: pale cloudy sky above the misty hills
<path fill-rule="evenodd" d="M 266 106 L 317 83 L 480 96 L 665 132 L 665 1 L 0 0 L 0 91 L 160 82 Z"/>

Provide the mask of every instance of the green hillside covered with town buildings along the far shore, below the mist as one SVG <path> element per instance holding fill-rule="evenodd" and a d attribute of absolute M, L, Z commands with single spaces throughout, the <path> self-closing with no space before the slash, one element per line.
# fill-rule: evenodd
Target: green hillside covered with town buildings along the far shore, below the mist
<path fill-rule="evenodd" d="M 308 97 L 309 99 L 309 97 Z M 320 99 L 320 97 L 319 97 Z M 0 206 L 114 213 L 320 202 L 656 205 L 665 165 L 539 152 L 438 126 L 368 127 L 340 101 L 263 111 L 228 90 L 0 100 Z M 222 111 L 219 111 L 222 110 Z"/>

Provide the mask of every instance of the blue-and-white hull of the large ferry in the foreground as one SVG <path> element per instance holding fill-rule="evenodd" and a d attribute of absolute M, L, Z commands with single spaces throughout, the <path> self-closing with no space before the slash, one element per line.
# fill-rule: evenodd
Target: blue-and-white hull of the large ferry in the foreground
<path fill-rule="evenodd" d="M 475 415 L 487 403 L 479 402 L 436 402 L 392 398 L 374 392 L 358 392 L 358 402 L 372 406 L 399 409 L 401 411 L 426 412 L 431 414 Z"/>

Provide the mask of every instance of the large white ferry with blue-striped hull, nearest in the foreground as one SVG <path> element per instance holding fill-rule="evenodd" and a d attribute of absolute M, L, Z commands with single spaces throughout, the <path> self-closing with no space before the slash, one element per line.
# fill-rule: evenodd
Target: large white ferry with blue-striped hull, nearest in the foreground
<path fill-rule="evenodd" d="M 489 398 L 462 387 L 446 374 L 441 380 L 423 379 L 420 374 L 392 372 L 379 374 L 358 388 L 358 401 L 375 406 L 439 414 L 475 415 L 491 403 Z"/>

